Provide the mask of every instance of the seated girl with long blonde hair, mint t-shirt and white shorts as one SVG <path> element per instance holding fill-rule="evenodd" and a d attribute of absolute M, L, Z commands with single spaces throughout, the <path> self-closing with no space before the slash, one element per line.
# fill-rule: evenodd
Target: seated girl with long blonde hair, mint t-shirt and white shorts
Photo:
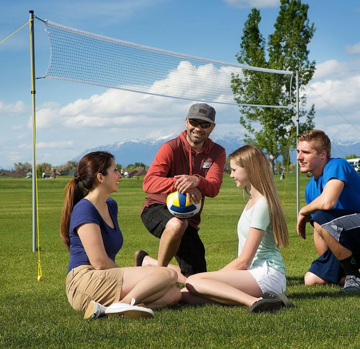
<path fill-rule="evenodd" d="M 291 306 L 279 251 L 289 244 L 288 229 L 269 162 L 255 145 L 244 145 L 229 158 L 230 178 L 250 196 L 238 222 L 238 258 L 219 271 L 189 276 L 183 302 L 247 305 L 249 313 Z"/>

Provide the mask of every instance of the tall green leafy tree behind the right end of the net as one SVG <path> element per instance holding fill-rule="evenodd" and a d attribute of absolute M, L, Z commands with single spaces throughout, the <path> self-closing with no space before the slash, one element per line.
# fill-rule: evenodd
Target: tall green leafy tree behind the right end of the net
<path fill-rule="evenodd" d="M 307 45 L 314 35 L 314 23 L 307 18 L 309 5 L 300 0 L 280 0 L 280 11 L 274 24 L 275 32 L 267 41 L 259 30 L 260 11 L 252 9 L 244 24 L 237 60 L 241 64 L 277 70 L 298 71 L 299 87 L 303 90 L 315 71 L 309 62 Z M 239 104 L 290 105 L 289 77 L 258 71 L 243 71 L 245 78 L 233 74 L 231 87 Z M 285 93 L 286 92 L 286 93 Z M 292 79 L 292 101 L 296 99 L 296 79 Z M 314 105 L 306 108 L 306 96 L 300 101 L 300 131 L 314 128 Z M 275 159 L 294 149 L 294 112 L 285 108 L 240 106 L 240 124 L 245 128 L 244 140 L 255 144 L 269 155 L 274 169 Z M 292 132 L 292 136 L 291 136 Z"/>

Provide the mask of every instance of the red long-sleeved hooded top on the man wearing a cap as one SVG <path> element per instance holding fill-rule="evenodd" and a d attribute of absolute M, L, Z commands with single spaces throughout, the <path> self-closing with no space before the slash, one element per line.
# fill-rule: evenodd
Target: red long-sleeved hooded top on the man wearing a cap
<path fill-rule="evenodd" d="M 164 143 L 158 150 L 143 182 L 143 190 L 147 196 L 144 207 L 154 203 L 166 205 L 167 194 L 176 190 L 176 175 L 199 177 L 197 188 L 202 194 L 199 213 L 188 218 L 188 223 L 199 229 L 200 215 L 204 205 L 204 197 L 215 197 L 219 194 L 226 162 L 225 149 L 211 139 L 206 139 L 204 147 L 196 153 L 186 140 L 186 131 L 176 138 Z"/>

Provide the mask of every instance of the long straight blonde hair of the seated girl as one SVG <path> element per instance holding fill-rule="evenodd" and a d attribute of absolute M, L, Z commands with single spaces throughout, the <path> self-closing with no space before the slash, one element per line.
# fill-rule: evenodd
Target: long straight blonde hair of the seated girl
<path fill-rule="evenodd" d="M 264 195 L 276 245 L 279 248 L 289 245 L 284 211 L 276 192 L 274 175 L 264 152 L 255 145 L 247 144 L 233 151 L 229 158 L 244 168 L 251 185 Z M 245 190 L 249 194 L 246 188 Z"/>

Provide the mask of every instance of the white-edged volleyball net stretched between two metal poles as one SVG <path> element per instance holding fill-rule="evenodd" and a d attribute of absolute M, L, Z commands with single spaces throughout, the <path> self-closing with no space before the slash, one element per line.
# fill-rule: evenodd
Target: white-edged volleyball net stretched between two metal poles
<path fill-rule="evenodd" d="M 291 71 L 249 67 L 166 51 L 47 20 L 45 27 L 51 49 L 46 78 L 209 103 L 292 108 Z M 237 103 L 234 100 L 233 77 L 245 82 L 248 79 L 266 81 L 261 91 L 270 95 L 274 86 L 268 82 L 274 79 L 268 76 L 273 74 L 282 76 L 284 98 L 280 103 L 284 105 L 251 104 L 251 100 L 245 99 Z"/>

